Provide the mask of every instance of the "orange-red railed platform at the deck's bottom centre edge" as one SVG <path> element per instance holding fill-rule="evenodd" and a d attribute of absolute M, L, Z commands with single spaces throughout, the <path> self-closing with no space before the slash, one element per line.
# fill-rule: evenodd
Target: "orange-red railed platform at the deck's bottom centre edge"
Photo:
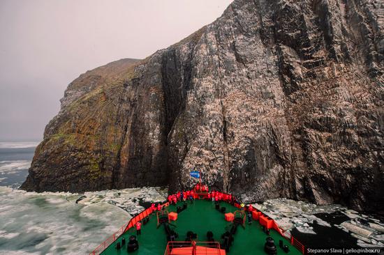
<path fill-rule="evenodd" d="M 224 255 L 219 242 L 168 242 L 164 255 Z"/>

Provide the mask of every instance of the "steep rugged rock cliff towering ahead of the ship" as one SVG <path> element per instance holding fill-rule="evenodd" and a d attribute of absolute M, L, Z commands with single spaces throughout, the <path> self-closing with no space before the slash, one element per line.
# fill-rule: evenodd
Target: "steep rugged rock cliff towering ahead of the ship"
<path fill-rule="evenodd" d="M 235 0 L 145 60 L 80 75 L 25 190 L 187 187 L 384 209 L 383 8 Z"/>

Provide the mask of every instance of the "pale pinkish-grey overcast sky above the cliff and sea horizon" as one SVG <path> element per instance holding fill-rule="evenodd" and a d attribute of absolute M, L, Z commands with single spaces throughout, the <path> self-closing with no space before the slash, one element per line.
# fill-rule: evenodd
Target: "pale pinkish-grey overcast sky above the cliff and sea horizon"
<path fill-rule="evenodd" d="M 216 20 L 232 0 L 1 0 L 0 141 L 40 140 L 66 86 L 143 59 Z"/>

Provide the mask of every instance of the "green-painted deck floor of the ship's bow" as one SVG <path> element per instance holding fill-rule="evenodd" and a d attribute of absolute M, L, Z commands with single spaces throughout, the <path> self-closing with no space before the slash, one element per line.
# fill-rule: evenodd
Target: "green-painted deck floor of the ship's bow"
<path fill-rule="evenodd" d="M 221 206 L 226 207 L 226 212 L 235 212 L 239 210 L 235 206 L 229 203 L 220 202 Z M 170 205 L 167 210 L 168 212 L 176 212 L 176 207 L 182 206 L 182 202 L 177 205 Z M 179 234 L 177 241 L 184 241 L 186 238 L 187 231 L 193 231 L 198 234 L 198 241 L 205 242 L 207 240 L 207 231 L 214 233 L 214 239 L 221 242 L 221 235 L 229 229 L 232 223 L 226 222 L 224 214 L 215 209 L 214 203 L 207 200 L 195 200 L 194 203 L 188 203 L 188 208 L 179 212 L 177 220 L 171 222 L 175 224 L 175 231 Z M 156 212 L 150 216 L 147 224 L 142 224 L 141 235 L 138 235 L 139 249 L 135 252 L 127 252 L 126 246 L 124 245 L 121 249 L 116 249 L 116 243 L 121 242 L 121 238 L 125 238 L 128 242 L 128 238 L 131 235 L 136 235 L 134 228 L 129 229 L 121 235 L 112 245 L 110 245 L 101 254 L 103 255 L 149 255 L 149 254 L 164 254 L 167 246 L 167 236 L 165 234 L 164 226 L 157 227 Z M 263 231 L 263 227 L 259 222 L 252 220 L 251 225 L 247 222 L 245 228 L 238 226 L 237 233 L 234 235 L 234 242 L 230 247 L 229 252 L 226 254 L 266 254 L 264 252 L 265 238 L 267 234 Z M 290 252 L 288 254 L 302 254 L 290 242 L 283 238 L 277 231 L 270 229 L 269 236 L 274 239 L 277 247 L 277 254 L 286 254 L 279 247 L 279 240 L 283 240 L 284 245 L 288 245 Z"/>

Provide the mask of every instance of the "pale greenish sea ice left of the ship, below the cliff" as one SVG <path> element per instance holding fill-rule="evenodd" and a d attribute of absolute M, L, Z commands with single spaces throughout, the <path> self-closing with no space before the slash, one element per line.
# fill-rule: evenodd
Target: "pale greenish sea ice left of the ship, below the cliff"
<path fill-rule="evenodd" d="M 165 200 L 166 192 L 155 187 L 87 192 L 86 203 L 75 203 L 82 194 L 0 187 L 0 254 L 89 254 L 142 208 L 135 197 Z"/>

